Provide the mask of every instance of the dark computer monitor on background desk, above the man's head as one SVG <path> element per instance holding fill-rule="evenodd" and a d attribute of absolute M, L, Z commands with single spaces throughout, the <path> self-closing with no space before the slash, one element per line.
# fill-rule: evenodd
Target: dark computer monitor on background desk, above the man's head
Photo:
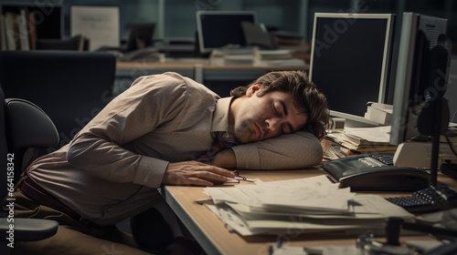
<path fill-rule="evenodd" d="M 241 22 L 256 23 L 255 12 L 197 11 L 197 36 L 200 53 L 222 46 L 246 46 Z"/>

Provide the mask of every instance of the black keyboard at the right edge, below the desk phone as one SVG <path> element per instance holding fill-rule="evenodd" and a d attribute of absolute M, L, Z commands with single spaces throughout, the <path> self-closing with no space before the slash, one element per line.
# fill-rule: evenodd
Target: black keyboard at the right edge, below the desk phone
<path fill-rule="evenodd" d="M 457 208 L 457 191 L 447 186 L 430 187 L 415 191 L 409 197 L 387 200 L 410 212 L 429 212 Z"/>

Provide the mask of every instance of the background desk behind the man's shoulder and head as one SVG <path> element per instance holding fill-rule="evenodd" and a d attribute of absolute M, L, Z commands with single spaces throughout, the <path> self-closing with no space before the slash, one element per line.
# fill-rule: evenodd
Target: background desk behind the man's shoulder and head
<path fill-rule="evenodd" d="M 118 62 L 113 94 L 122 93 L 139 76 L 176 72 L 209 87 L 221 97 L 228 97 L 231 88 L 248 85 L 273 70 L 308 71 L 309 66 L 215 66 L 206 58 L 167 58 L 164 63 Z"/>

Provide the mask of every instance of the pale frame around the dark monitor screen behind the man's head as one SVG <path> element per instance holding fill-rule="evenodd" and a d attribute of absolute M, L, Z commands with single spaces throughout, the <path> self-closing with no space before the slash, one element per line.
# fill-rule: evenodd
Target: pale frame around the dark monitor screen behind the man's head
<path fill-rule="evenodd" d="M 315 37 L 317 29 L 317 19 L 318 18 L 343 18 L 343 19 L 385 19 L 387 21 L 386 36 L 384 42 L 384 53 L 383 53 L 383 63 L 380 76 L 379 91 L 377 95 L 377 103 L 385 103 L 387 98 L 387 87 L 388 87 L 388 67 L 390 64 L 390 53 L 392 51 L 393 37 L 394 37 L 394 23 L 395 15 L 394 14 L 352 14 L 352 13 L 315 13 L 314 14 L 314 28 L 313 28 L 313 39 L 312 39 L 312 49 L 311 49 L 311 58 L 310 58 L 310 70 L 309 70 L 309 79 L 313 81 L 313 69 L 314 69 L 314 54 L 315 54 Z M 319 86 L 319 85 L 317 85 Z M 341 112 L 335 109 L 330 109 L 330 115 L 333 117 L 343 117 L 347 123 L 351 123 L 351 126 L 377 126 L 378 123 L 371 121 L 363 116 L 357 116 L 351 113 Z M 348 121 L 349 120 L 349 121 Z M 349 126 L 349 125 L 347 125 Z"/>

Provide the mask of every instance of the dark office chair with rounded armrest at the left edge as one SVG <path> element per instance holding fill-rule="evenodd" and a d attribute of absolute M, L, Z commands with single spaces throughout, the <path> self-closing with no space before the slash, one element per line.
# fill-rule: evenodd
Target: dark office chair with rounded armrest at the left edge
<path fill-rule="evenodd" d="M 2 172 L 5 179 L 1 185 L 1 198 L 9 198 L 8 188 L 19 179 L 27 148 L 56 145 L 58 131 L 46 113 L 27 100 L 5 99 L 0 89 L 0 153 L 3 155 L 0 157 L 0 163 L 5 166 L 2 168 L 5 169 Z M 11 203 L 14 205 L 14 200 L 11 200 Z M 43 240 L 53 236 L 58 229 L 58 222 L 55 220 L 13 218 L 12 221 L 8 218 L 9 215 L 11 214 L 8 211 L 0 218 L 1 254 L 9 254 L 11 251 L 7 244 L 11 242 L 12 237 L 15 242 Z M 11 228 L 11 224 L 14 228 Z"/>

